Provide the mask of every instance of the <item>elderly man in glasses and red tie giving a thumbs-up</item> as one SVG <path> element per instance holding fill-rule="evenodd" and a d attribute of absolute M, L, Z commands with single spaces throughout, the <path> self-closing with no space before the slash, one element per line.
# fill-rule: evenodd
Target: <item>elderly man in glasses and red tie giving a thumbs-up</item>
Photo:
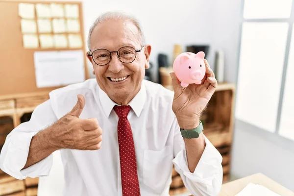
<path fill-rule="evenodd" d="M 172 164 L 194 196 L 217 196 L 222 158 L 199 121 L 217 87 L 207 61 L 199 85 L 182 89 L 171 73 L 174 93 L 144 80 L 151 47 L 120 12 L 98 17 L 88 47 L 96 80 L 50 92 L 7 136 L 1 170 L 48 176 L 60 150 L 64 196 L 168 196 Z"/>

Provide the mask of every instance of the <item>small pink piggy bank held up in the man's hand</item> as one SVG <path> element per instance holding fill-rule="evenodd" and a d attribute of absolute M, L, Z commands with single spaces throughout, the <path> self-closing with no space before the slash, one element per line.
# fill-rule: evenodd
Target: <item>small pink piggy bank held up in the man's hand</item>
<path fill-rule="evenodd" d="M 206 68 L 204 64 L 205 53 L 184 52 L 178 55 L 173 62 L 173 72 L 181 81 L 182 87 L 189 84 L 201 84 Z"/>

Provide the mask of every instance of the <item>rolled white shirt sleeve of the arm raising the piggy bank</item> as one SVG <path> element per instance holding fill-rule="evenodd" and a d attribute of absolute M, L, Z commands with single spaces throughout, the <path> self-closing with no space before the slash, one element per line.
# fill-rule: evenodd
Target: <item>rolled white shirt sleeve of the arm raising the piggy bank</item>
<path fill-rule="evenodd" d="M 177 127 L 177 126 L 176 126 Z M 178 129 L 177 129 L 178 128 Z M 174 135 L 174 169 L 193 196 L 218 196 L 222 184 L 222 157 L 220 152 L 204 136 L 206 147 L 194 172 L 190 172 L 184 140 L 177 127 Z"/>

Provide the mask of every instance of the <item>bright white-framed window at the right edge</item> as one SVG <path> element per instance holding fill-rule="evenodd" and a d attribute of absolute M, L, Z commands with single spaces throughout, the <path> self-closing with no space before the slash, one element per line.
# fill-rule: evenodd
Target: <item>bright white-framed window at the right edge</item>
<path fill-rule="evenodd" d="M 244 0 L 235 115 L 294 140 L 291 9 L 292 0 Z"/>

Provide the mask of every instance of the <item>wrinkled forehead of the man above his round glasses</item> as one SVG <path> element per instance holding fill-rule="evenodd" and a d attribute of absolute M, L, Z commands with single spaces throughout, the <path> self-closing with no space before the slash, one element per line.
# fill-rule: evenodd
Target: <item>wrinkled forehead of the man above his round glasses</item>
<path fill-rule="evenodd" d="M 139 30 L 128 20 L 107 20 L 98 24 L 91 35 L 91 50 L 117 50 L 123 46 L 141 48 Z"/>

